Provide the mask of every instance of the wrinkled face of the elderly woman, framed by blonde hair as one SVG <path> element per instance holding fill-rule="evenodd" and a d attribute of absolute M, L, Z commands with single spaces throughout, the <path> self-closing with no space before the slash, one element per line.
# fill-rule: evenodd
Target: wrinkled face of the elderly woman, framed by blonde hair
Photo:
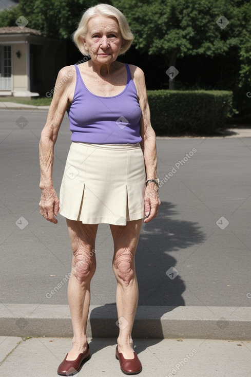
<path fill-rule="evenodd" d="M 91 60 L 98 64 L 114 62 L 120 53 L 123 37 L 114 18 L 95 16 L 88 22 L 86 39 L 82 39 Z"/>

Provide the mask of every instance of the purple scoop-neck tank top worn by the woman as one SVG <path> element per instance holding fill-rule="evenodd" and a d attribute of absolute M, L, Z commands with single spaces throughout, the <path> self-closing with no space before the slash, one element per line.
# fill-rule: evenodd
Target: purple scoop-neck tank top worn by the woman
<path fill-rule="evenodd" d="M 91 93 L 76 69 L 76 87 L 67 110 L 71 140 L 94 144 L 136 144 L 140 136 L 141 108 L 136 86 L 127 69 L 127 84 L 117 96 L 101 97 Z"/>

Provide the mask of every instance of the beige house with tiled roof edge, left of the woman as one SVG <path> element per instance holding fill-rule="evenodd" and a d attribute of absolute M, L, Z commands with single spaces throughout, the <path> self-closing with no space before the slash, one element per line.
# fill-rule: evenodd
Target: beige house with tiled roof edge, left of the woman
<path fill-rule="evenodd" d="M 0 96 L 45 96 L 64 60 L 64 43 L 27 27 L 0 28 Z"/>

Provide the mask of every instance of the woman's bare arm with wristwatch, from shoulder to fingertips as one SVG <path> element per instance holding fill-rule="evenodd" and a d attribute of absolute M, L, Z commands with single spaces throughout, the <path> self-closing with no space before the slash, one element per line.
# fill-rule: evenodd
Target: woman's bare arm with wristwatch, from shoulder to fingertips
<path fill-rule="evenodd" d="M 151 126 L 150 109 L 147 100 L 145 76 L 142 69 L 132 67 L 132 77 L 138 91 L 139 104 L 142 111 L 140 120 L 140 134 L 142 137 L 141 148 L 144 155 L 146 180 L 157 179 L 157 151 L 155 131 Z M 145 190 L 145 215 L 144 222 L 149 222 L 158 213 L 160 199 L 158 196 L 159 187 L 155 182 L 149 182 Z"/>

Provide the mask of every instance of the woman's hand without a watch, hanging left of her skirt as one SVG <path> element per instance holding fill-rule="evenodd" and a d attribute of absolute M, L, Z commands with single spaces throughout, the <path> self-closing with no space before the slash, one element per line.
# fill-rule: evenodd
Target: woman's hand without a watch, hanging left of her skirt
<path fill-rule="evenodd" d="M 59 213 L 59 198 L 53 187 L 45 187 L 42 189 L 41 200 L 39 203 L 40 214 L 48 221 L 57 223 L 57 216 Z"/>

